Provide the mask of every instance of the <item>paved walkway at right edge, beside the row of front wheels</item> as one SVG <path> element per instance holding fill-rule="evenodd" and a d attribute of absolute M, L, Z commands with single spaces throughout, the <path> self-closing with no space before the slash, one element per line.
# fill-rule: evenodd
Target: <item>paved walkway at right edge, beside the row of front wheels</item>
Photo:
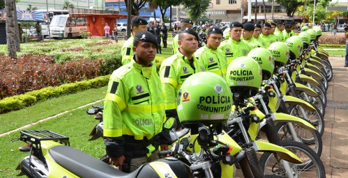
<path fill-rule="evenodd" d="M 326 177 L 348 177 L 348 67 L 345 58 L 330 57 L 333 79 L 326 92 L 323 153 Z"/>

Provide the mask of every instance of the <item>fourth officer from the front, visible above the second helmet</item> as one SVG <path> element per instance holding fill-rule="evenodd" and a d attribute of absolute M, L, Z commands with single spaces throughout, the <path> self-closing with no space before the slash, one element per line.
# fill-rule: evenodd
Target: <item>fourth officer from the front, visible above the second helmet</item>
<path fill-rule="evenodd" d="M 252 47 L 241 40 L 243 25 L 239 22 L 233 22 L 229 25 L 229 33 L 231 37 L 221 42 L 219 49 L 225 52 L 227 58 L 227 66 L 229 63 L 240 56 L 247 56 Z"/>

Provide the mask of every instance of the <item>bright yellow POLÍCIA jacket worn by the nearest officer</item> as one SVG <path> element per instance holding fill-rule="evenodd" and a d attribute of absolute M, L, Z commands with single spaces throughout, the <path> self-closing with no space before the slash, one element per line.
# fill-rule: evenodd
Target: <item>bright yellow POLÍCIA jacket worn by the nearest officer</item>
<path fill-rule="evenodd" d="M 151 140 L 160 133 L 165 121 L 165 104 L 162 89 L 158 86 L 160 78 L 153 67 L 139 65 L 134 59 L 115 70 L 110 76 L 104 102 L 104 136 L 127 136 L 134 141 Z M 122 155 L 126 151 L 122 142 L 125 144 L 127 140 L 119 141 L 108 143 L 111 146 L 107 147 L 107 153 Z M 146 148 L 149 149 L 148 156 L 156 149 L 152 145 Z M 112 149 L 118 153 L 111 153 Z"/>

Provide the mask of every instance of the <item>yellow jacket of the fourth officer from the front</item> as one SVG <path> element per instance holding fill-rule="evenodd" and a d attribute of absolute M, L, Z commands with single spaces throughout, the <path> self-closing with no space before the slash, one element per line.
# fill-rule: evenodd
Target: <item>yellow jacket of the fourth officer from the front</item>
<path fill-rule="evenodd" d="M 222 41 L 218 49 L 225 52 L 228 66 L 229 63 L 231 63 L 235 58 L 247 56 L 252 47 L 250 47 L 250 45 L 243 40 L 237 42 L 232 40 L 232 38 L 229 38 L 228 40 Z"/>

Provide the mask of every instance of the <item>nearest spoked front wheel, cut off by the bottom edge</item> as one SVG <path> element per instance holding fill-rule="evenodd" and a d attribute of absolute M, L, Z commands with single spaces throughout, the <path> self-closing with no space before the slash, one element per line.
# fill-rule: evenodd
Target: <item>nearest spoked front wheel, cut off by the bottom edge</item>
<path fill-rule="evenodd" d="M 301 159 L 301 161 L 303 161 L 301 164 L 289 162 L 294 177 L 324 178 L 326 176 L 324 164 L 320 158 L 317 156 L 317 154 L 315 154 L 315 152 L 313 152 L 312 149 L 303 143 L 285 141 L 282 143 L 282 147 L 285 147 L 290 152 L 293 152 Z M 262 154 L 259 162 L 265 175 L 273 174 L 287 177 L 287 173 L 285 172 L 282 161 L 280 161 L 278 157 L 275 157 L 273 153 L 266 152 Z"/>

